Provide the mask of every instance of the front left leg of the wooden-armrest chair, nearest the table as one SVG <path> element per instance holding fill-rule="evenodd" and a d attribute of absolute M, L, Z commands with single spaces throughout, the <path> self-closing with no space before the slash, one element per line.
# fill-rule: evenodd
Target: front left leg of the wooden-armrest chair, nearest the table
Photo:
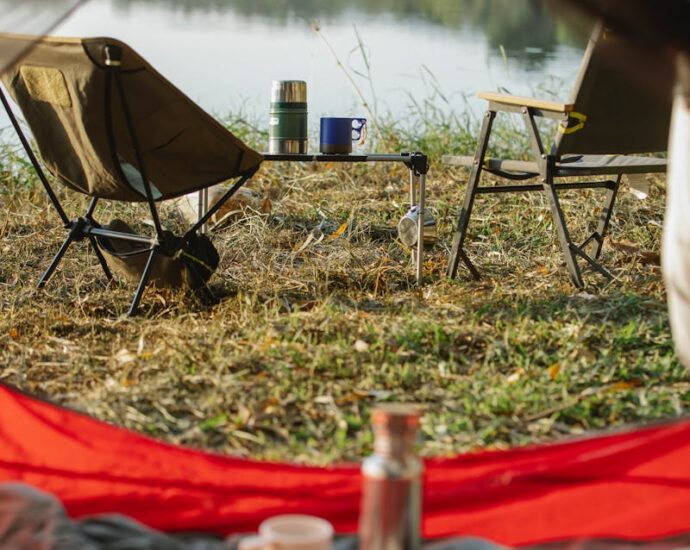
<path fill-rule="evenodd" d="M 467 236 L 467 226 L 470 223 L 470 216 L 472 214 L 472 206 L 474 205 L 474 198 L 476 196 L 477 187 L 479 187 L 479 180 L 481 179 L 482 167 L 484 166 L 484 157 L 486 156 L 486 149 L 489 145 L 489 136 L 491 135 L 491 126 L 493 125 L 495 111 L 487 111 L 482 121 L 482 128 L 479 133 L 479 141 L 477 143 L 477 150 L 474 155 L 472 169 L 470 171 L 470 178 L 467 182 L 467 190 L 465 192 L 465 201 L 460 210 L 458 217 L 458 225 L 453 236 L 453 245 L 451 248 L 450 258 L 448 261 L 447 276 L 451 279 L 455 278 L 458 271 L 458 264 L 460 260 L 467 266 L 472 277 L 479 279 L 479 271 L 472 264 L 470 259 L 463 250 L 465 237 Z"/>

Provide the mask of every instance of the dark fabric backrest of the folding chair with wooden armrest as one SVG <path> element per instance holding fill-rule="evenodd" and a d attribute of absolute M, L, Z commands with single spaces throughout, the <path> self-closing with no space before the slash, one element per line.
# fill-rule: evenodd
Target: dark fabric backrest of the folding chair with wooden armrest
<path fill-rule="evenodd" d="M 673 64 L 597 24 L 585 52 L 567 129 L 555 154 L 665 151 L 671 119 Z"/>

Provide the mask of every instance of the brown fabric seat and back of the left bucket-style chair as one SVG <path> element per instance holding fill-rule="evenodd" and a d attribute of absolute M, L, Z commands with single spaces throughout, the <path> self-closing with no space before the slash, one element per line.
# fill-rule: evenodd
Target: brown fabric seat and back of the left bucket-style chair
<path fill-rule="evenodd" d="M 0 35 L 0 49 L 35 42 L 2 75 L 45 166 L 62 183 L 100 198 L 146 200 L 140 167 L 114 71 L 126 97 L 155 199 L 203 189 L 247 174 L 262 157 L 112 38 Z M 117 69 L 106 46 L 121 48 Z M 174 55 L 171 52 L 171 55 Z"/>

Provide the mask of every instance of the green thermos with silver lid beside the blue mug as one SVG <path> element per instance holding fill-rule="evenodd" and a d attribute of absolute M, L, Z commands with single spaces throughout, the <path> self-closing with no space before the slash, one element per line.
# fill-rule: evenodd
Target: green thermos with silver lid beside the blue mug
<path fill-rule="evenodd" d="M 274 80 L 268 121 L 268 152 L 307 152 L 307 83 Z"/>

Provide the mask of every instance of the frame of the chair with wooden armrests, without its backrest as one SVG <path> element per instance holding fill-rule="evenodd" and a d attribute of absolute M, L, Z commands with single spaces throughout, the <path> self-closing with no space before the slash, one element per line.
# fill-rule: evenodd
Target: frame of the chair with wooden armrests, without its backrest
<path fill-rule="evenodd" d="M 479 271 L 467 256 L 464 250 L 464 243 L 467 237 L 470 216 L 474 205 L 475 197 L 479 194 L 493 193 L 512 193 L 512 192 L 533 192 L 543 191 L 549 202 L 551 215 L 558 235 L 561 251 L 565 257 L 566 267 L 572 283 L 583 288 L 584 282 L 582 272 L 578 265 L 578 259 L 584 260 L 596 272 L 607 279 L 612 279 L 613 275 L 599 261 L 604 239 L 611 221 L 614 203 L 620 187 L 620 182 L 624 169 L 612 170 L 609 168 L 577 168 L 568 167 L 567 163 L 559 164 L 559 156 L 553 152 L 547 152 L 544 148 L 542 138 L 537 127 L 537 117 L 547 117 L 560 121 L 561 128 L 573 128 L 578 124 L 575 117 L 571 115 L 574 105 L 557 103 L 550 101 L 539 101 L 528 98 L 520 98 L 507 94 L 480 93 L 480 98 L 489 102 L 488 109 L 483 117 L 482 126 L 479 133 L 477 148 L 470 168 L 470 176 L 465 193 L 465 200 L 458 216 L 456 231 L 453 238 L 450 259 L 448 263 L 448 277 L 454 278 L 457 274 L 460 261 L 470 271 L 474 279 L 479 279 Z M 514 172 L 501 170 L 500 161 L 486 158 L 487 147 L 491 135 L 491 129 L 498 112 L 519 114 L 522 117 L 527 135 L 530 141 L 530 148 L 534 159 L 536 159 L 538 172 Z M 573 124 L 574 123 L 574 124 Z M 567 131 L 567 130 L 566 130 Z M 458 157 L 444 157 L 447 164 L 461 164 L 454 162 Z M 499 184 L 492 186 L 480 186 L 482 172 L 489 172 L 501 178 L 519 181 L 538 177 L 540 183 L 534 184 Z M 656 170 L 646 169 L 643 173 Z M 637 172 L 640 172 L 639 170 Z M 557 178 L 572 178 L 581 176 L 615 176 L 605 180 L 583 181 L 570 183 L 556 183 Z M 581 243 L 573 242 L 568 225 L 560 205 L 559 192 L 574 189 L 605 189 L 606 194 L 599 215 L 596 229 Z"/>

